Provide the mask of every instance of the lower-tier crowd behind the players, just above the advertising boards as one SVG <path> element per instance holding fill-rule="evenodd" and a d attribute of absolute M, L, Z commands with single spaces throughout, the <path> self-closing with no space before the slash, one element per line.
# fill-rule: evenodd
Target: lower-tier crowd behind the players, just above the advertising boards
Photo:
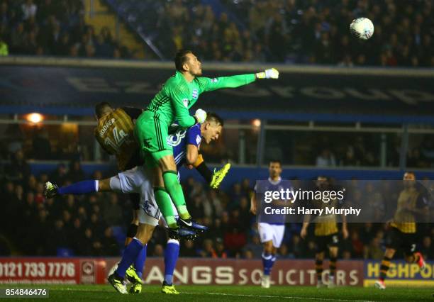
<path fill-rule="evenodd" d="M 113 173 L 112 173 L 113 174 Z M 111 174 L 104 175 L 109 177 Z M 93 179 L 103 178 L 94 172 Z M 43 184 L 52 181 L 65 185 L 87 179 L 80 162 L 69 167 L 59 164 L 55 171 L 33 175 L 21 150 L 17 150 L 2 172 L 0 211 L 2 255 L 120 255 L 126 227 L 130 223 L 131 206 L 126 194 L 98 193 L 89 196 L 56 196 L 45 199 Z M 210 230 L 194 242 L 183 241 L 184 257 L 259 258 L 262 245 L 257 234 L 255 216 L 250 213 L 252 186 L 248 179 L 235 183 L 227 191 L 210 190 L 190 178 L 183 184 L 187 206 L 199 223 Z M 387 198 L 396 198 L 390 186 L 377 188 L 367 183 L 363 191 L 375 196 L 367 205 L 374 213 L 385 213 Z M 376 191 L 377 190 L 377 191 Z M 352 199 L 362 196 L 354 191 Z M 396 193 L 396 192 L 395 192 Z M 311 224 L 313 228 L 313 224 Z M 311 230 L 301 240 L 300 223 L 289 223 L 281 258 L 311 258 L 316 241 Z M 419 224 L 418 243 L 426 259 L 434 259 L 434 228 Z M 340 241 L 340 257 L 344 259 L 382 259 L 386 225 L 359 223 L 349 225 L 350 237 Z M 164 228 L 157 228 L 148 244 L 148 255 L 163 255 L 167 240 Z"/>

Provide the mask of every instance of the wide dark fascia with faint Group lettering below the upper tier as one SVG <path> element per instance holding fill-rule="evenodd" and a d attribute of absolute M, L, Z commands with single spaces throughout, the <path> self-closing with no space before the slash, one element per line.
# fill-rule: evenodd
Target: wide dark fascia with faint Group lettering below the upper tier
<path fill-rule="evenodd" d="M 80 116 L 92 116 L 91 107 L 100 101 L 113 106 L 146 106 L 174 72 L 172 62 L 50 57 L 4 57 L 0 66 L 4 113 Z M 256 72 L 265 67 L 269 64 L 207 62 L 205 75 Z M 279 81 L 204 94 L 198 106 L 226 119 L 434 123 L 428 114 L 434 104 L 432 69 L 276 67 Z M 377 111 L 379 106 L 382 114 Z"/>

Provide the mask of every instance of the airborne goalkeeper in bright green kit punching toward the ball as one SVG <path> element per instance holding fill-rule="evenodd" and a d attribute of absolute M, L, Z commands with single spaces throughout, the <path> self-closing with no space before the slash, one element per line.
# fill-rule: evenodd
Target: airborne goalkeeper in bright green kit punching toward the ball
<path fill-rule="evenodd" d="M 190 50 L 179 50 L 174 63 L 177 72 L 165 82 L 148 108 L 139 116 L 135 124 L 135 136 L 146 164 L 152 168 L 155 199 L 169 226 L 169 237 L 177 238 L 179 225 L 195 228 L 196 224 L 191 221 L 182 187 L 177 179 L 172 147 L 167 142 L 169 125 L 177 121 L 181 127 L 188 128 L 204 123 L 205 111 L 199 109 L 194 116 L 189 115 L 189 108 L 203 92 L 235 88 L 255 82 L 256 79 L 277 79 L 279 72 L 276 69 L 267 69 L 257 74 L 233 77 L 199 77 L 202 74 L 201 62 Z M 179 213 L 178 223 L 172 201 Z"/>

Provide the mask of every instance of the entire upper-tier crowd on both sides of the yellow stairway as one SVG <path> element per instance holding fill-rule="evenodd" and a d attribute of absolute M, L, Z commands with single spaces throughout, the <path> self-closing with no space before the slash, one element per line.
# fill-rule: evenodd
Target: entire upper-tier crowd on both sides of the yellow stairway
<path fill-rule="evenodd" d="M 221 0 L 208 1 L 207 6 L 201 2 L 104 3 L 165 59 L 187 47 L 201 60 L 211 61 L 434 66 L 431 0 Z M 352 19 L 360 16 L 375 26 L 368 41 L 349 33 Z M 0 1 L 0 43 L 9 46 L 11 55 L 132 57 L 112 34 L 109 28 L 96 33 L 84 22 L 82 0 Z M 156 56 L 149 50 L 147 57 Z"/>

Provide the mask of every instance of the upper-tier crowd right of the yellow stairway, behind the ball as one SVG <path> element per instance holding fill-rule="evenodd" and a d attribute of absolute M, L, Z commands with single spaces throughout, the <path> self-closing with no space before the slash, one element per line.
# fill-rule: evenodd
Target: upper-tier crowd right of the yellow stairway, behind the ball
<path fill-rule="evenodd" d="M 201 60 L 434 66 L 433 1 L 140 1 L 152 10 L 137 9 L 139 1 L 109 1 L 142 25 L 166 58 L 187 47 Z M 350 36 L 357 17 L 374 23 L 370 40 Z"/>

